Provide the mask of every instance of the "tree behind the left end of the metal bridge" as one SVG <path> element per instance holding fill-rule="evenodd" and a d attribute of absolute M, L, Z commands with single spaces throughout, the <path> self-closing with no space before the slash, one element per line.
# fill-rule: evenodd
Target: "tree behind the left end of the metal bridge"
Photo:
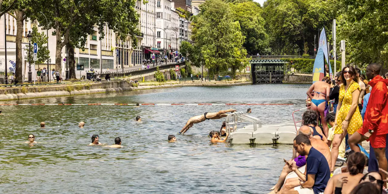
<path fill-rule="evenodd" d="M 271 53 L 269 36 L 265 33 L 262 8 L 257 3 L 246 1 L 231 4 L 233 17 L 239 21 L 242 35 L 246 36 L 243 46 L 251 55 Z"/>

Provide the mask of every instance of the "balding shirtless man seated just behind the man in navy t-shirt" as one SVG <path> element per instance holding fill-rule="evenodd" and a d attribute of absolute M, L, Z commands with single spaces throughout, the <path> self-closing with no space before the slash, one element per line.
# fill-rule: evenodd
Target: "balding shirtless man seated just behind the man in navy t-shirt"
<path fill-rule="evenodd" d="M 305 126 L 305 125 L 301 126 L 299 128 L 298 134 L 303 134 L 303 135 L 306 135 L 308 137 L 308 139 L 311 142 L 312 147 L 314 147 L 316 150 L 318 150 L 320 153 L 322 153 L 323 156 L 325 156 L 327 163 L 329 164 L 329 168 L 330 168 L 331 167 L 331 152 L 330 152 L 329 146 L 324 141 L 314 138 L 314 136 L 311 133 L 311 128 L 308 126 Z M 296 150 L 293 149 L 293 159 L 289 160 L 288 163 L 290 165 L 293 165 L 294 163 L 297 164 L 297 161 L 294 161 L 294 158 L 296 158 L 296 157 L 297 157 Z M 303 165 L 301 165 L 301 166 L 303 166 Z M 292 189 L 292 188 L 300 185 L 300 183 L 299 183 L 300 181 L 299 181 L 298 177 L 289 178 L 284 183 L 284 180 L 286 179 L 288 173 L 290 173 L 291 171 L 292 170 L 290 170 L 287 165 L 284 165 L 282 173 L 279 177 L 279 181 L 277 182 L 277 184 L 274 187 L 271 188 L 271 190 L 273 189 L 274 191 L 272 191 L 270 193 L 288 191 L 289 189 Z M 283 186 L 283 183 L 284 183 L 284 186 Z"/>

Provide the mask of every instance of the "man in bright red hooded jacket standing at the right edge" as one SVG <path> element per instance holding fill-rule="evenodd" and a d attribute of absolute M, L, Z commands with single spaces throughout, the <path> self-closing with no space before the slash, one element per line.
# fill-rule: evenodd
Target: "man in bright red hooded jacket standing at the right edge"
<path fill-rule="evenodd" d="M 372 87 L 371 96 L 366 107 L 364 123 L 348 140 L 350 149 L 360 152 L 359 144 L 364 140 L 370 140 L 379 168 L 387 170 L 388 164 L 385 156 L 386 134 L 388 133 L 388 80 L 379 76 L 381 66 L 371 63 L 366 68 L 366 76 L 372 79 L 369 85 Z M 385 173 L 383 179 L 386 179 Z M 385 183 L 386 184 L 386 183 Z"/>

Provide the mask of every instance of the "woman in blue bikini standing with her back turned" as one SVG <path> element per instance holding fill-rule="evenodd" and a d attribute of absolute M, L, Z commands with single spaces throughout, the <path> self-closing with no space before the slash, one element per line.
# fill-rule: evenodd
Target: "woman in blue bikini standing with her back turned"
<path fill-rule="evenodd" d="M 314 96 L 312 93 L 314 93 Z M 313 83 L 313 85 L 310 86 L 310 88 L 308 88 L 306 93 L 311 99 L 311 109 L 319 113 L 323 126 L 323 132 L 326 137 L 329 133 L 329 128 L 327 127 L 325 119 L 325 107 L 327 102 L 329 102 L 329 93 L 330 84 L 326 83 L 325 81 L 316 81 Z"/>

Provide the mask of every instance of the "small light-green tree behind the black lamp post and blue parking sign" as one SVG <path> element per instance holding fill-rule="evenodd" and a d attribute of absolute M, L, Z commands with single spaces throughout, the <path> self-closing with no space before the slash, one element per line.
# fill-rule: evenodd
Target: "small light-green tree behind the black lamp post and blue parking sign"
<path fill-rule="evenodd" d="M 38 28 L 36 26 L 33 26 L 32 28 L 32 37 L 31 37 L 31 51 L 33 50 L 33 47 L 34 45 L 32 43 L 37 43 L 38 45 L 38 54 L 37 54 L 37 61 L 36 63 L 37 64 L 41 64 L 41 63 L 44 63 L 45 61 L 47 61 L 47 59 L 49 58 L 49 55 L 50 55 L 50 51 L 49 49 L 47 49 L 47 36 L 45 35 L 45 33 L 39 33 L 38 32 Z M 34 61 L 34 57 L 32 55 L 32 52 L 31 52 L 31 55 L 29 55 L 29 45 L 26 46 L 26 48 L 24 49 L 26 51 L 26 57 L 25 59 L 27 61 Z"/>

